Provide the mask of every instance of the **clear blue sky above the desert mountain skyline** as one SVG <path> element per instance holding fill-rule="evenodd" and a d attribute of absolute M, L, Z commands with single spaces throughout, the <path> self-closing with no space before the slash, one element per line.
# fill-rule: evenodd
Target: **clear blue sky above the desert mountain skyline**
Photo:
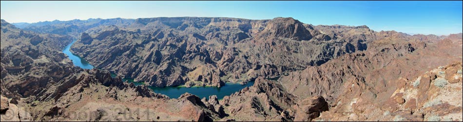
<path fill-rule="evenodd" d="M 89 18 L 292 17 L 314 25 L 448 35 L 463 31 L 462 1 L 1 1 L 10 23 Z"/>

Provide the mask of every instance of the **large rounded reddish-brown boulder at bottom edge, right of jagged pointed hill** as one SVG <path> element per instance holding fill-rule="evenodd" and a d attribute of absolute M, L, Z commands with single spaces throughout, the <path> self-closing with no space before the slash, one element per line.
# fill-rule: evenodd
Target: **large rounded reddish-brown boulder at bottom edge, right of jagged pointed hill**
<path fill-rule="evenodd" d="M 323 97 L 315 96 L 302 100 L 297 104 L 294 121 L 310 122 L 312 119 L 318 118 L 323 111 L 328 111 L 328 102 Z"/>

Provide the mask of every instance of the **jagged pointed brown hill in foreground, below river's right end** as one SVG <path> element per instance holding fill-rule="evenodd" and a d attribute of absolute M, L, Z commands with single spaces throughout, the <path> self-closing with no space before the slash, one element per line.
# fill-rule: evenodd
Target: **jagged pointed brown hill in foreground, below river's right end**
<path fill-rule="evenodd" d="M 220 104 L 236 121 L 290 121 L 295 101 L 281 85 L 259 77 L 253 86 L 225 97 Z"/>

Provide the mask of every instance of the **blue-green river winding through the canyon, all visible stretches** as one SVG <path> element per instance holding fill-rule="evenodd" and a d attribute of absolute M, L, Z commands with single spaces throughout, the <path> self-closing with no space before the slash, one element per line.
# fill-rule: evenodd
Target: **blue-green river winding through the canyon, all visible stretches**
<path fill-rule="evenodd" d="M 82 69 L 93 69 L 92 66 L 88 61 L 85 61 L 83 58 L 71 53 L 70 48 L 71 45 L 74 44 L 76 40 L 72 41 L 69 45 L 64 48 L 63 53 L 66 54 L 69 59 L 74 63 L 74 65 L 82 68 Z M 116 74 L 112 74 L 112 77 L 115 77 Z M 144 85 L 143 82 L 135 82 L 133 79 L 122 79 L 122 81 L 126 82 L 134 82 L 135 85 Z M 214 87 L 214 86 L 193 86 L 187 88 L 185 86 L 174 86 L 174 87 L 153 87 L 148 86 L 150 89 L 154 91 L 154 93 L 164 94 L 169 96 L 169 98 L 178 98 L 180 95 L 188 92 L 190 94 L 196 95 L 199 98 L 206 97 L 208 98 L 211 95 L 217 95 L 217 99 L 222 99 L 225 96 L 229 96 L 245 87 L 249 87 L 254 85 L 254 81 L 249 81 L 245 85 L 241 85 L 239 83 L 225 83 L 222 87 Z"/>

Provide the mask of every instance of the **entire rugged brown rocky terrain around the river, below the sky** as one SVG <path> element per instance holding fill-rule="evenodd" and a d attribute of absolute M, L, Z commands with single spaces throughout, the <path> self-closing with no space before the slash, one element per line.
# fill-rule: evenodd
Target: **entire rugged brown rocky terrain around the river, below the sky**
<path fill-rule="evenodd" d="M 26 26 L 27 25 L 27 26 Z M 73 27 L 69 31 L 61 28 Z M 1 21 L 1 121 L 462 121 L 462 33 L 292 18 Z M 67 29 L 65 29 L 67 30 Z M 96 69 L 73 66 L 72 51 Z M 112 78 L 110 73 L 118 76 Z M 151 86 L 221 86 L 179 98 Z"/>

